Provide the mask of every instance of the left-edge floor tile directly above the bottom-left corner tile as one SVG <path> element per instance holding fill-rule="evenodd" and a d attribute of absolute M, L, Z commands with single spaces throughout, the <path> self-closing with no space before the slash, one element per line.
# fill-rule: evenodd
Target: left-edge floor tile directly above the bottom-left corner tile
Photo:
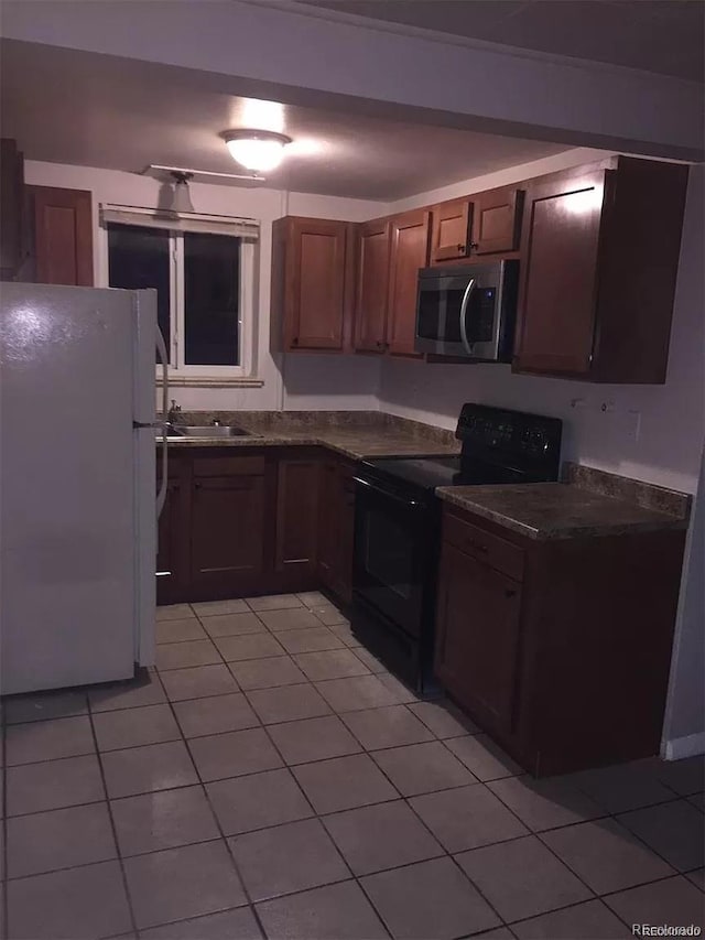
<path fill-rule="evenodd" d="M 8 877 L 21 878 L 117 856 L 107 803 L 7 820 Z"/>

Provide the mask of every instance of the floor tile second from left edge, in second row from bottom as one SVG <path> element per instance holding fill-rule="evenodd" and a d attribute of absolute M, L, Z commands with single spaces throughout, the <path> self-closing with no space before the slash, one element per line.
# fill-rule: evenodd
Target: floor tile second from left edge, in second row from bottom
<path fill-rule="evenodd" d="M 161 790 L 112 800 L 121 855 L 140 855 L 217 839 L 218 826 L 203 787 Z"/>

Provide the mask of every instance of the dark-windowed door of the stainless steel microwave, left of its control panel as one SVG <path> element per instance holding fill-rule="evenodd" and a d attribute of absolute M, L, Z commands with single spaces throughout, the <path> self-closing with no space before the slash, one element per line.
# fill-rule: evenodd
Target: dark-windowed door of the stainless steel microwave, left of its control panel
<path fill-rule="evenodd" d="M 474 278 L 468 273 L 419 278 L 414 344 L 417 353 L 470 355 L 463 339 L 460 314 L 474 283 Z"/>

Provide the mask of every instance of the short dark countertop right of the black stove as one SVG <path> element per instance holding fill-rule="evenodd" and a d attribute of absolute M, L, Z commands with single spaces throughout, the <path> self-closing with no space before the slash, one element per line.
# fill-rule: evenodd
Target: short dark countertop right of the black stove
<path fill-rule="evenodd" d="M 570 539 L 685 529 L 687 518 L 604 496 L 566 483 L 446 486 L 446 503 L 530 539 Z"/>

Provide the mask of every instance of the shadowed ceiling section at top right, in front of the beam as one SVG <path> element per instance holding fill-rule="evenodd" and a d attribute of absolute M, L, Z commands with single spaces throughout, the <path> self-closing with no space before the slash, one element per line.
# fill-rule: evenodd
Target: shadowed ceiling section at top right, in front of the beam
<path fill-rule="evenodd" d="M 705 80 L 703 0 L 299 0 L 455 36 Z"/>

